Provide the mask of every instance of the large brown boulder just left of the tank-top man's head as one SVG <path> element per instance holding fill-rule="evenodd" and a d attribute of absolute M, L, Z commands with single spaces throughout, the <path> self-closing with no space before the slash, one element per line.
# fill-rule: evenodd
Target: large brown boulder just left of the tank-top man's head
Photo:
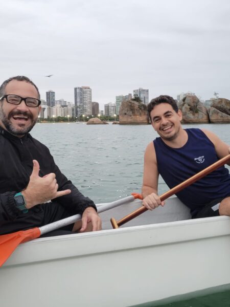
<path fill-rule="evenodd" d="M 119 122 L 121 125 L 148 124 L 147 106 L 133 100 L 123 101 L 119 111 Z"/>

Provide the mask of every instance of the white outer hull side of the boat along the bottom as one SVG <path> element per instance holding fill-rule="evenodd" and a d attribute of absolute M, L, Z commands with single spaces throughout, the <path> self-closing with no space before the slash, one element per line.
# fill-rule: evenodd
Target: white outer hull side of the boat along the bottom
<path fill-rule="evenodd" d="M 229 255 L 226 216 L 39 238 L 20 245 L 0 269 L 0 302 L 121 307 L 157 301 L 230 283 Z"/>

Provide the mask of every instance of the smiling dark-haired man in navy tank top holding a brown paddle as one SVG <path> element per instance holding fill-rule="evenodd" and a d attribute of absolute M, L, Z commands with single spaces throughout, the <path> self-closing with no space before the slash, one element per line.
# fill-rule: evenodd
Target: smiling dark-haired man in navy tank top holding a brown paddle
<path fill-rule="evenodd" d="M 143 205 L 152 210 L 165 204 L 157 195 L 159 174 L 173 188 L 226 156 L 230 147 L 209 130 L 183 129 L 181 111 L 170 96 L 152 99 L 147 109 L 159 135 L 148 144 L 144 161 Z M 230 215 L 228 169 L 222 166 L 176 195 L 193 218 Z"/>

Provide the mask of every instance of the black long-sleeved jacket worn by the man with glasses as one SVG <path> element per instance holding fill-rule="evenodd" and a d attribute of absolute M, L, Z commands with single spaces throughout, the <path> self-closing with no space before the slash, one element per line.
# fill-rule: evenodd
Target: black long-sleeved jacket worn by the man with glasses
<path fill-rule="evenodd" d="M 7 223 L 12 224 L 17 218 L 23 218 L 21 211 L 15 206 L 13 197 L 15 193 L 27 187 L 33 169 L 33 160 L 37 160 L 40 165 L 40 177 L 53 172 L 56 174 L 58 190 L 72 191 L 53 201 L 66 207 L 71 214 L 82 214 L 89 206 L 96 209 L 94 202 L 83 196 L 61 173 L 45 145 L 30 134 L 17 138 L 0 127 L 0 233 L 3 225 L 7 228 Z"/>

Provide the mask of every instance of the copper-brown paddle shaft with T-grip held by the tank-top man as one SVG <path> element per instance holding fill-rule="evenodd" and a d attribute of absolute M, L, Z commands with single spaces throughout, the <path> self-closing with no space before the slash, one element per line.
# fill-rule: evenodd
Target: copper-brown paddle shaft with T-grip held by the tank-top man
<path fill-rule="evenodd" d="M 211 173 L 215 169 L 217 169 L 217 168 L 221 167 L 222 165 L 224 165 L 225 163 L 227 163 L 227 161 L 230 161 L 230 154 L 225 156 L 224 158 L 218 160 L 217 162 L 213 163 L 212 165 L 204 168 L 203 170 L 201 170 L 200 172 L 198 172 L 197 174 L 195 174 L 191 178 L 187 179 L 186 181 L 183 181 L 182 183 L 178 184 L 177 186 L 175 186 L 171 190 L 169 190 L 169 191 L 165 192 L 164 194 L 160 195 L 159 196 L 160 200 L 164 201 L 167 198 L 169 198 L 170 196 L 172 196 L 172 195 L 176 194 L 177 192 L 181 191 L 182 189 L 187 188 L 188 186 L 190 186 L 191 184 L 193 184 L 197 180 L 203 178 L 207 174 Z M 112 217 L 111 220 L 110 220 L 112 227 L 118 228 L 119 226 L 131 221 L 134 217 L 139 216 L 140 214 L 144 213 L 147 210 L 148 209 L 146 207 L 142 206 L 142 207 L 136 209 L 135 211 L 131 212 L 130 214 L 124 216 L 119 221 L 114 220 L 114 218 Z"/>

